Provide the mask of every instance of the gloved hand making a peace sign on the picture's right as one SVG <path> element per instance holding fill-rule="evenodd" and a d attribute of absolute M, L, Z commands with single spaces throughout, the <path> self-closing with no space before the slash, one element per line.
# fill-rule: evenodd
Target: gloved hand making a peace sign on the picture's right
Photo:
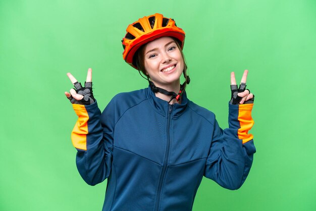
<path fill-rule="evenodd" d="M 230 74 L 230 88 L 232 91 L 232 98 L 229 103 L 231 104 L 248 104 L 253 103 L 254 95 L 250 93 L 249 89 L 246 89 L 246 80 L 247 80 L 248 70 L 244 71 L 244 74 L 241 78 L 239 88 L 237 87 L 235 73 L 231 72 Z"/>

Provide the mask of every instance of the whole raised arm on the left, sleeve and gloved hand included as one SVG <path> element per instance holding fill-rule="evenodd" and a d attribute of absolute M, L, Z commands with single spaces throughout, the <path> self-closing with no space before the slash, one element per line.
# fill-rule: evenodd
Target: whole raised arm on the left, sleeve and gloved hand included
<path fill-rule="evenodd" d="M 110 109 L 112 103 L 109 103 L 108 109 L 104 110 L 102 121 L 92 93 L 92 70 L 90 68 L 88 70 L 85 87 L 82 87 L 70 73 L 67 75 L 76 88 L 65 94 L 73 103 L 73 109 L 78 116 L 71 134 L 72 143 L 77 149 L 77 168 L 86 183 L 95 185 L 108 178 L 111 172 L 111 145 L 113 145 L 111 131 L 114 130 L 114 124 L 111 124 L 114 121 Z M 103 126 L 106 127 L 104 131 Z"/>

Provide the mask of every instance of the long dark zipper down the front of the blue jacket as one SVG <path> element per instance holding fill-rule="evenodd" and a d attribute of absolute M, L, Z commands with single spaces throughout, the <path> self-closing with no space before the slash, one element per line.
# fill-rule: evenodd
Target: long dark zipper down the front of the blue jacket
<path fill-rule="evenodd" d="M 162 186 L 163 186 L 163 180 L 166 174 L 166 170 L 167 170 L 167 164 L 168 164 L 168 159 L 169 159 L 169 151 L 170 151 L 170 120 L 171 120 L 171 112 L 172 112 L 172 104 L 168 105 L 168 122 L 167 122 L 167 150 L 166 150 L 166 155 L 165 155 L 165 162 L 164 162 L 164 167 L 163 167 L 163 171 L 162 174 L 160 175 L 160 179 L 159 179 L 159 186 L 158 186 L 158 192 L 157 192 L 157 200 L 156 200 L 156 207 L 155 210 L 158 211 L 159 210 L 159 205 L 160 205 L 160 195 L 161 195 L 161 191 L 162 191 Z"/>

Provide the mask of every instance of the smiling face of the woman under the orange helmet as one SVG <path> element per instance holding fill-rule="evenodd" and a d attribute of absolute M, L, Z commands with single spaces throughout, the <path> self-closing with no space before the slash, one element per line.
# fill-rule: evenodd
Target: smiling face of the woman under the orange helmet
<path fill-rule="evenodd" d="M 180 49 L 171 37 L 148 42 L 144 57 L 146 73 L 156 86 L 163 88 L 180 84 L 184 61 Z"/>

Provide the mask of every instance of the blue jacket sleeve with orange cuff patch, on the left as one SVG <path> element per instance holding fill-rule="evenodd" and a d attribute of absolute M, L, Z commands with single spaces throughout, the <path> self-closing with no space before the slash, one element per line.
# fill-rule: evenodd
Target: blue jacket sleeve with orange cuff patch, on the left
<path fill-rule="evenodd" d="M 78 121 L 71 133 L 77 149 L 77 169 L 89 185 L 107 179 L 111 172 L 114 120 L 112 103 L 101 115 L 97 102 L 90 105 L 73 104 Z"/>

